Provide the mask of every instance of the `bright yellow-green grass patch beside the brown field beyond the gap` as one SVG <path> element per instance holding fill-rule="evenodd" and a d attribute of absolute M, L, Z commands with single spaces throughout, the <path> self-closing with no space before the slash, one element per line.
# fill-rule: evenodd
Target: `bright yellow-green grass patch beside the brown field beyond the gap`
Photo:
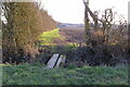
<path fill-rule="evenodd" d="M 41 45 L 50 45 L 55 38 L 60 37 L 58 28 L 55 28 L 50 32 L 43 32 L 41 35 L 39 35 L 39 40 L 41 40 Z"/>

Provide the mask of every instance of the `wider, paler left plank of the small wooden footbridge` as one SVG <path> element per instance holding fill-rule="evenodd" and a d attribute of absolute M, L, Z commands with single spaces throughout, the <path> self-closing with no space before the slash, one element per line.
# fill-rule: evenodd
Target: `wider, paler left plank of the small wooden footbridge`
<path fill-rule="evenodd" d="M 47 63 L 47 67 L 48 69 L 53 69 L 54 67 L 54 65 L 55 65 L 55 63 L 56 63 L 56 60 L 58 59 L 58 55 L 60 55 L 60 53 L 54 53 L 53 55 L 52 55 L 52 58 L 49 60 L 49 62 Z"/>

